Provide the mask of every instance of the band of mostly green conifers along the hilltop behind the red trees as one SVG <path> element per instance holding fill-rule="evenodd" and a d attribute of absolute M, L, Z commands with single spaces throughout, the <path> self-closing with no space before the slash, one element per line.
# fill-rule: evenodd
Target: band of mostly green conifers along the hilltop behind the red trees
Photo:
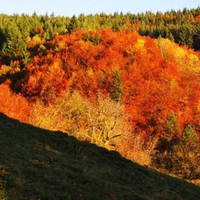
<path fill-rule="evenodd" d="M 200 8 L 152 12 L 140 14 L 105 13 L 95 15 L 63 17 L 54 14 L 32 16 L 14 14 L 0 15 L 0 56 L 2 62 L 23 59 L 22 67 L 28 62 L 28 41 L 51 40 L 55 35 L 72 33 L 77 29 L 94 30 L 111 28 L 113 31 L 136 30 L 152 38 L 169 38 L 180 45 L 187 45 L 196 51 L 200 49 Z M 39 40 L 39 39 L 38 39 Z"/>

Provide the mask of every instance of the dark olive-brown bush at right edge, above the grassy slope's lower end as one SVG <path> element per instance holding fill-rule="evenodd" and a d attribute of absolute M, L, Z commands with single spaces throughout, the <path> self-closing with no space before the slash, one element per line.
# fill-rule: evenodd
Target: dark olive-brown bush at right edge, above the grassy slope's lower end
<path fill-rule="evenodd" d="M 171 143 L 170 149 L 159 151 L 154 162 L 161 171 L 179 178 L 199 179 L 200 145 L 194 128 L 187 125 L 176 143 Z"/>

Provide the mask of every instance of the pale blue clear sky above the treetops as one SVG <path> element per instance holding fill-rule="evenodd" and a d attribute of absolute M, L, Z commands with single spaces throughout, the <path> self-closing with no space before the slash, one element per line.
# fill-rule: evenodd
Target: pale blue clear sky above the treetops
<path fill-rule="evenodd" d="M 138 14 L 146 11 L 166 12 L 197 8 L 200 0 L 0 0 L 0 13 L 3 14 L 52 14 L 68 16 L 127 12 Z"/>

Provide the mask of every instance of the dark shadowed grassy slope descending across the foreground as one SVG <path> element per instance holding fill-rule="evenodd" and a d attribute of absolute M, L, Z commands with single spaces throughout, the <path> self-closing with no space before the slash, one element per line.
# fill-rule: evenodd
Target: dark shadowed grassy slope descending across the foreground
<path fill-rule="evenodd" d="M 0 114 L 0 199 L 200 199 L 200 188 L 116 152 Z M 3 196 L 5 198 L 3 198 Z"/>

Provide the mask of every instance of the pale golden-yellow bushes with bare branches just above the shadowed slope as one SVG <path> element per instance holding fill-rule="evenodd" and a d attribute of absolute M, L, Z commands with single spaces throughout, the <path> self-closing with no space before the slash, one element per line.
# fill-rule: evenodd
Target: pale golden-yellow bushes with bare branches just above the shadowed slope
<path fill-rule="evenodd" d="M 119 102 L 99 94 L 93 102 L 78 91 L 60 96 L 54 103 L 33 105 L 30 123 L 60 130 L 108 149 L 115 149 L 119 138 L 129 131 L 124 108 Z"/>

